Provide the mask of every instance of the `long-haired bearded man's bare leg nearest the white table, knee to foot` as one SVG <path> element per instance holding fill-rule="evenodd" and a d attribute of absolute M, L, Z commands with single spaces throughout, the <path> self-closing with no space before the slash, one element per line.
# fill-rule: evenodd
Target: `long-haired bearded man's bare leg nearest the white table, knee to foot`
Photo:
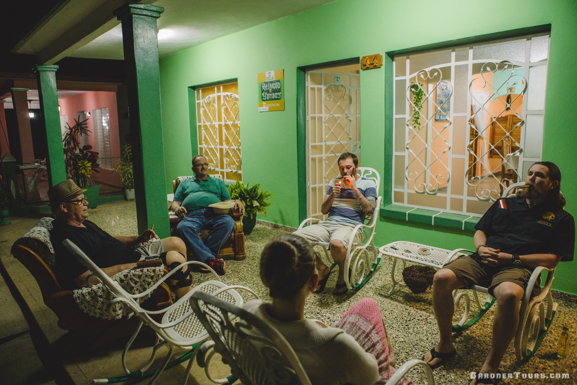
<path fill-rule="evenodd" d="M 439 353 L 452 353 L 455 351 L 451 331 L 453 314 L 455 313 L 453 290 L 460 289 L 463 286 L 463 282 L 459 281 L 455 273 L 449 269 L 442 268 L 434 275 L 433 311 L 437 326 L 439 326 L 440 335 L 439 343 L 434 347 L 434 350 Z M 427 352 L 424 361 L 433 366 L 439 363 L 441 358 L 432 358 L 430 352 Z"/>

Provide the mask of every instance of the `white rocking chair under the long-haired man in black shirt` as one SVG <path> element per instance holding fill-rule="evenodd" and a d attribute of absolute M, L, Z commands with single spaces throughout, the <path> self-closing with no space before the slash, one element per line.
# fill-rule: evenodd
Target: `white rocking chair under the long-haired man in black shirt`
<path fill-rule="evenodd" d="M 511 190 L 515 189 L 518 186 L 523 186 L 525 182 L 519 182 L 512 184 L 503 192 L 503 197 L 509 197 L 514 195 L 509 195 Z M 451 253 L 451 257 L 457 253 L 469 252 L 473 253 L 474 251 L 467 250 L 467 249 L 455 249 Z M 449 259 L 450 260 L 450 259 Z M 541 289 L 541 293 L 538 296 L 531 298 L 531 293 L 533 293 L 533 287 L 538 282 L 539 276 L 541 276 L 542 271 L 548 271 L 547 279 L 545 280 L 545 285 Z M 545 338 L 547 331 L 549 330 L 550 324 L 553 322 L 553 317 L 555 316 L 555 312 L 557 311 L 557 302 L 553 301 L 553 297 L 551 295 L 551 284 L 553 283 L 553 275 L 555 273 L 555 269 L 549 269 L 543 266 L 539 266 L 533 270 L 533 274 L 529 278 L 529 283 L 527 284 L 527 288 L 525 289 L 525 293 L 523 296 L 523 300 L 521 302 L 521 308 L 519 311 L 519 326 L 517 327 L 517 331 L 515 334 L 515 356 L 517 360 L 522 360 L 523 358 L 530 358 L 535 354 L 539 345 Z M 479 311 L 477 314 L 473 316 L 469 322 L 466 322 L 467 317 L 469 317 L 469 309 L 470 309 L 470 300 L 469 295 L 465 292 L 456 293 L 456 290 L 453 292 L 453 298 L 455 302 L 455 309 L 459 309 L 459 303 L 461 298 L 465 300 L 465 309 L 463 313 L 463 317 L 452 327 L 454 332 L 462 331 L 466 328 L 469 328 L 475 322 L 477 322 L 485 313 L 489 310 L 489 308 L 494 304 L 495 298 L 489 294 L 489 291 L 486 287 L 473 285 L 471 287 L 473 289 L 473 298 L 475 300 L 475 304 Z M 479 297 L 477 292 L 486 293 L 487 299 L 485 301 L 485 305 L 481 306 L 479 302 Z M 545 308 L 545 300 L 547 302 Z"/>

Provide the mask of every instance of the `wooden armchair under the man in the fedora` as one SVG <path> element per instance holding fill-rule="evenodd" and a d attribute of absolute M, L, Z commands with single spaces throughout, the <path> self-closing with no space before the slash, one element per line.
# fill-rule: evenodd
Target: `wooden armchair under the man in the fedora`
<path fill-rule="evenodd" d="M 23 237 L 18 238 L 10 251 L 36 279 L 44 304 L 58 317 L 58 326 L 68 330 L 66 338 L 79 349 L 94 349 L 107 342 L 132 334 L 138 319 L 105 320 L 84 313 L 74 301 L 73 287 L 63 285 L 54 268 L 54 249 L 48 231 L 52 218 L 40 219 Z M 168 286 L 162 285 L 147 304 L 154 310 L 173 303 Z"/>

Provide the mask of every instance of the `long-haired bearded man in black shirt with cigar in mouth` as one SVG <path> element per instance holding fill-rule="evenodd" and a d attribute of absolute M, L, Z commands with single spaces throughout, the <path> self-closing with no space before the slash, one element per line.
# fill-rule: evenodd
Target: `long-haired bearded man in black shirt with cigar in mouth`
<path fill-rule="evenodd" d="M 424 356 L 431 367 L 455 354 L 452 291 L 478 285 L 488 287 L 497 299 L 493 341 L 481 373 L 497 372 L 517 330 L 519 302 L 533 269 L 573 260 L 575 222 L 563 210 L 560 182 L 561 172 L 554 163 L 534 163 L 526 178 L 529 187 L 519 189 L 516 197 L 497 200 L 475 226 L 475 253 L 459 257 L 435 274 L 433 308 L 440 342 Z"/>

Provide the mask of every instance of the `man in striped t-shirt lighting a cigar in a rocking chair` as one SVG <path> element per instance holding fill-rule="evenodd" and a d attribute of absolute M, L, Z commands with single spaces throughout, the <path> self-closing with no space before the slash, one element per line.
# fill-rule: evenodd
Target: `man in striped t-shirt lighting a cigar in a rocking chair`
<path fill-rule="evenodd" d="M 339 278 L 333 294 L 347 292 L 344 283 L 344 258 L 347 255 L 347 245 L 354 227 L 364 223 L 365 216 L 373 214 L 377 200 L 377 189 L 370 179 L 361 178 L 357 174 L 359 161 L 357 155 L 344 152 L 339 156 L 340 178 L 329 182 L 327 195 L 321 206 L 321 212 L 328 214 L 327 220 L 320 220 L 314 225 L 303 227 L 294 232 L 309 241 L 328 242 L 332 259 L 339 266 Z M 355 234 L 354 244 L 362 240 L 362 231 Z M 317 256 L 319 285 L 315 293 L 321 293 L 331 269 Z"/>

